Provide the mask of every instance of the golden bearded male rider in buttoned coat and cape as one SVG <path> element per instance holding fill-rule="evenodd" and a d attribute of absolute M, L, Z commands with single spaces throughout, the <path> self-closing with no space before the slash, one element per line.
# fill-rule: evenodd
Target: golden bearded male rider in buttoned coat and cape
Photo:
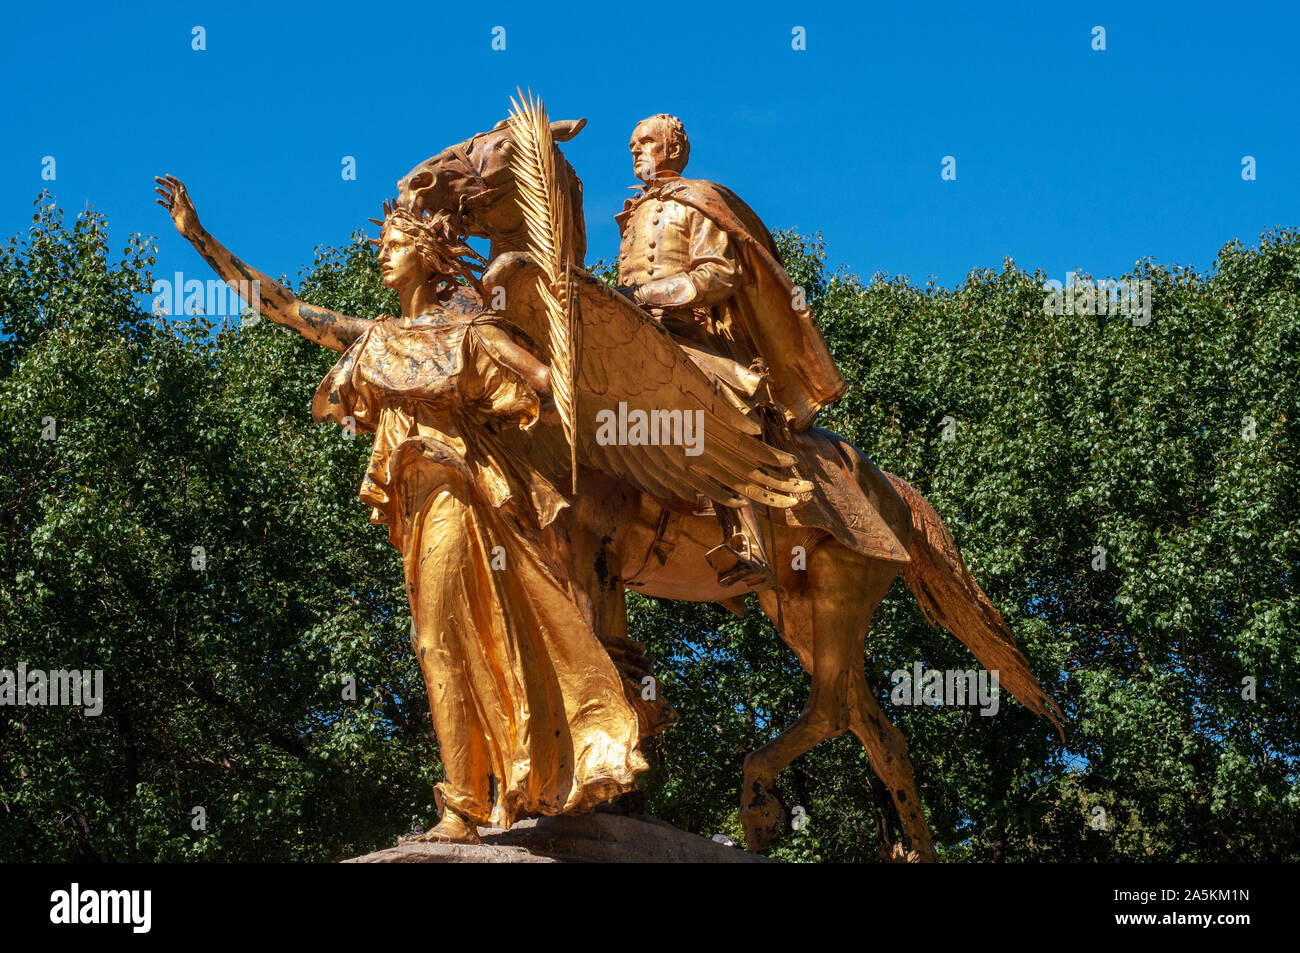
<path fill-rule="evenodd" d="M 802 291 L 749 205 L 714 182 L 682 178 L 690 142 L 681 120 L 642 120 L 629 146 L 642 185 L 615 216 L 621 290 L 781 446 L 781 432 L 807 428 L 845 390 Z M 718 507 L 718 516 L 724 542 L 708 563 L 719 582 L 774 582 L 754 504 Z"/>

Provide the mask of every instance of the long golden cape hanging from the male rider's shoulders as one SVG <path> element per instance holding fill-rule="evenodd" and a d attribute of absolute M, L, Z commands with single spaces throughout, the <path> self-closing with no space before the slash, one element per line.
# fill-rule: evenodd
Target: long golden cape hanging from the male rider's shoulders
<path fill-rule="evenodd" d="M 768 371 L 768 389 L 794 430 L 811 425 L 816 412 L 838 399 L 846 384 L 812 312 L 796 307 L 796 289 L 781 265 L 767 228 L 753 209 L 728 189 L 703 179 L 675 178 L 658 198 L 689 205 L 727 233 L 741 270 L 737 293 L 724 304 L 723 322 L 745 330 Z M 629 199 L 615 216 L 619 230 L 638 199 Z M 802 295 L 800 295 L 802 299 Z"/>

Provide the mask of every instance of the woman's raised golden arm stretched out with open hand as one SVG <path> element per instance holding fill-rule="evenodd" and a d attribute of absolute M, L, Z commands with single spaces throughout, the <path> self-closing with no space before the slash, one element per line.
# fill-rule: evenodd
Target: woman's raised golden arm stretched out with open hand
<path fill-rule="evenodd" d="M 174 176 L 162 176 L 153 181 L 159 183 L 159 187 L 153 190 L 161 196 L 159 204 L 172 213 L 176 230 L 190 241 L 203 260 L 212 265 L 212 270 L 221 276 L 222 281 L 233 290 L 239 291 L 240 281 L 255 282 L 261 298 L 261 311 L 272 321 L 292 328 L 308 341 L 322 345 L 332 351 L 346 351 L 370 326 L 372 322 L 365 319 L 339 315 L 329 308 L 317 308 L 294 298 L 283 285 L 240 261 L 229 248 L 208 234 L 199 224 L 194 202 L 190 200 L 190 194 L 181 179 Z"/>

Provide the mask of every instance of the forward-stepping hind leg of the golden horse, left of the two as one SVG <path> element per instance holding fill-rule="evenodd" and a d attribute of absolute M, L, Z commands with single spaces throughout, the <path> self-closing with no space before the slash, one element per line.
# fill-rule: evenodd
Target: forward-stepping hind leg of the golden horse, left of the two
<path fill-rule="evenodd" d="M 853 727 L 853 672 L 862 672 L 866 638 L 863 611 L 875 608 L 896 571 L 855 559 L 836 543 L 807 555 L 807 569 L 781 569 L 785 642 L 812 679 L 812 692 L 798 720 L 745 759 L 741 823 L 750 850 L 760 850 L 785 828 L 785 811 L 772 787 L 776 776 L 819 741 Z M 759 594 L 771 619 L 777 618 L 776 594 Z"/>

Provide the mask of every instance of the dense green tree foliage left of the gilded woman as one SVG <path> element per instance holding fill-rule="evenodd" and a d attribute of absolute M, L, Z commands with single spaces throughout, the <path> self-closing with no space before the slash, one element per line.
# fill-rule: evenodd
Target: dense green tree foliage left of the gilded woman
<path fill-rule="evenodd" d="M 140 313 L 152 264 L 52 205 L 0 261 L 0 666 L 105 677 L 98 718 L 0 709 L 0 855 L 372 848 L 433 811 L 437 750 L 367 441 L 309 423 L 337 355 Z M 360 244 L 316 270 L 322 303 L 396 307 Z"/>

